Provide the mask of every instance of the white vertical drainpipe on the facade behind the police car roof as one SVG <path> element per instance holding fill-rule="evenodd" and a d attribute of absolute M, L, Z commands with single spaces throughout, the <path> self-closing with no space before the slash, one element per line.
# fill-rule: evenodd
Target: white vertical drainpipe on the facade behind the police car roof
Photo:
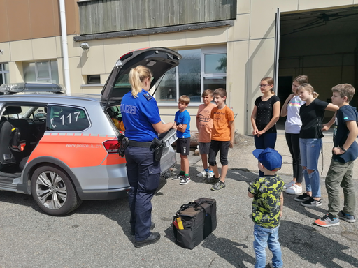
<path fill-rule="evenodd" d="M 59 0 L 59 15 L 61 18 L 62 54 L 64 56 L 64 85 L 67 89 L 66 93 L 71 94 L 69 50 L 67 44 L 66 12 L 64 8 L 64 1 L 65 0 Z"/>

